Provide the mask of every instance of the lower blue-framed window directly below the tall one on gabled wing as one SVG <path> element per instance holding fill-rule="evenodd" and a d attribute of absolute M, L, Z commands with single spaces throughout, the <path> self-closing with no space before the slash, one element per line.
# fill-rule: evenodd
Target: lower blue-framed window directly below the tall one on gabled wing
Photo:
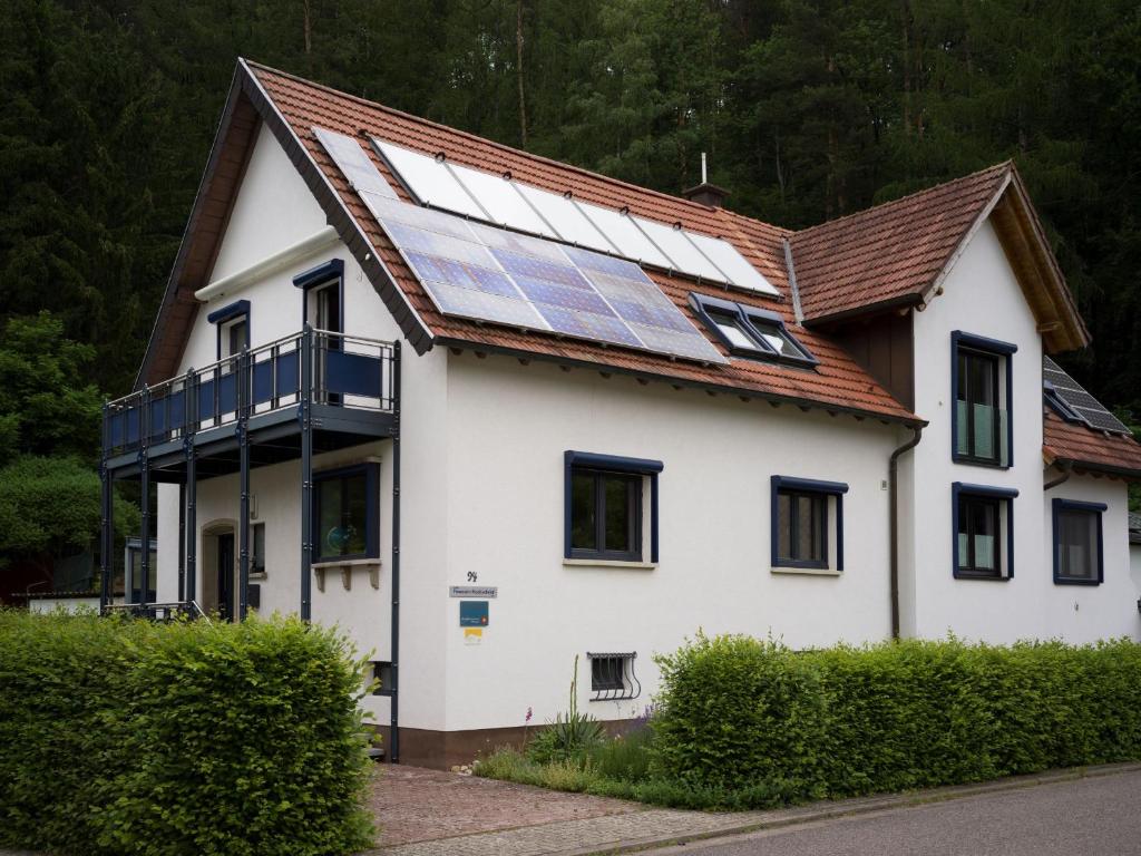
<path fill-rule="evenodd" d="M 952 567 L 957 579 L 1014 575 L 1014 498 L 1018 491 L 955 482 L 952 485 Z"/>

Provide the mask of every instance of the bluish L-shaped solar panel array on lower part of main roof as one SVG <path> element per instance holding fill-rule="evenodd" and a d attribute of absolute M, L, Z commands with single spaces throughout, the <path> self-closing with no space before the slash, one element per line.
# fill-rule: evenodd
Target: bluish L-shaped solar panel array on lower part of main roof
<path fill-rule="evenodd" d="M 400 202 L 375 189 L 385 179 L 356 140 L 317 138 L 442 313 L 726 362 L 638 265 Z"/>

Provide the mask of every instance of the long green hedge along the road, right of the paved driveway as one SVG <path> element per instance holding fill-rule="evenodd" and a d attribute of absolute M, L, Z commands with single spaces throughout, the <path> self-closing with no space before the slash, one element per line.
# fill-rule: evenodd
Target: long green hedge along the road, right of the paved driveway
<path fill-rule="evenodd" d="M 1141 759 L 1141 645 L 698 636 L 657 659 L 656 773 L 772 801 Z"/>

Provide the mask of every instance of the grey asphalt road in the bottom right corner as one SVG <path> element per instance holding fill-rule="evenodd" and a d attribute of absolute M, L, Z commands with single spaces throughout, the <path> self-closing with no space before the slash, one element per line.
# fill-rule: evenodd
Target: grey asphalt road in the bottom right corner
<path fill-rule="evenodd" d="M 1130 856 L 1141 854 L 1141 772 L 932 802 L 655 856 Z"/>

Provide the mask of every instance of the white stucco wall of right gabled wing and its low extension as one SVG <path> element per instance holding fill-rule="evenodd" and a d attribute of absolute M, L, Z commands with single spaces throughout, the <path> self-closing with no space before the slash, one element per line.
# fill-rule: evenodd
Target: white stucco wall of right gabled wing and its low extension
<path fill-rule="evenodd" d="M 915 410 L 930 425 L 904 468 L 911 483 L 907 493 L 914 498 L 904 552 L 904 633 L 938 638 L 953 630 L 963 638 L 993 643 L 1054 636 L 1079 641 L 1124 632 L 1136 636 L 1135 606 L 1123 600 L 1117 588 L 1127 576 L 1125 552 L 1108 547 L 1115 539 L 1124 541 L 1124 487 L 1119 482 L 1100 479 L 1082 486 L 1083 498 L 1108 502 L 1115 509 L 1104 520 L 1107 584 L 1075 593 L 1076 587 L 1053 583 L 1051 518 L 1049 508 L 1043 511 L 1041 337 L 989 223 L 976 233 L 950 269 L 942 294 L 915 313 L 914 329 Z M 955 330 L 1018 346 L 1012 357 L 1014 437 L 1009 469 L 952 460 L 950 333 Z M 954 482 L 1019 491 L 1013 501 L 1013 579 L 954 578 Z M 1076 490 L 1077 479 L 1069 486 Z M 1109 584 L 1110 578 L 1118 583 Z M 1075 597 L 1079 614 L 1071 616 Z M 1069 612 L 1059 608 L 1062 603 Z"/>

